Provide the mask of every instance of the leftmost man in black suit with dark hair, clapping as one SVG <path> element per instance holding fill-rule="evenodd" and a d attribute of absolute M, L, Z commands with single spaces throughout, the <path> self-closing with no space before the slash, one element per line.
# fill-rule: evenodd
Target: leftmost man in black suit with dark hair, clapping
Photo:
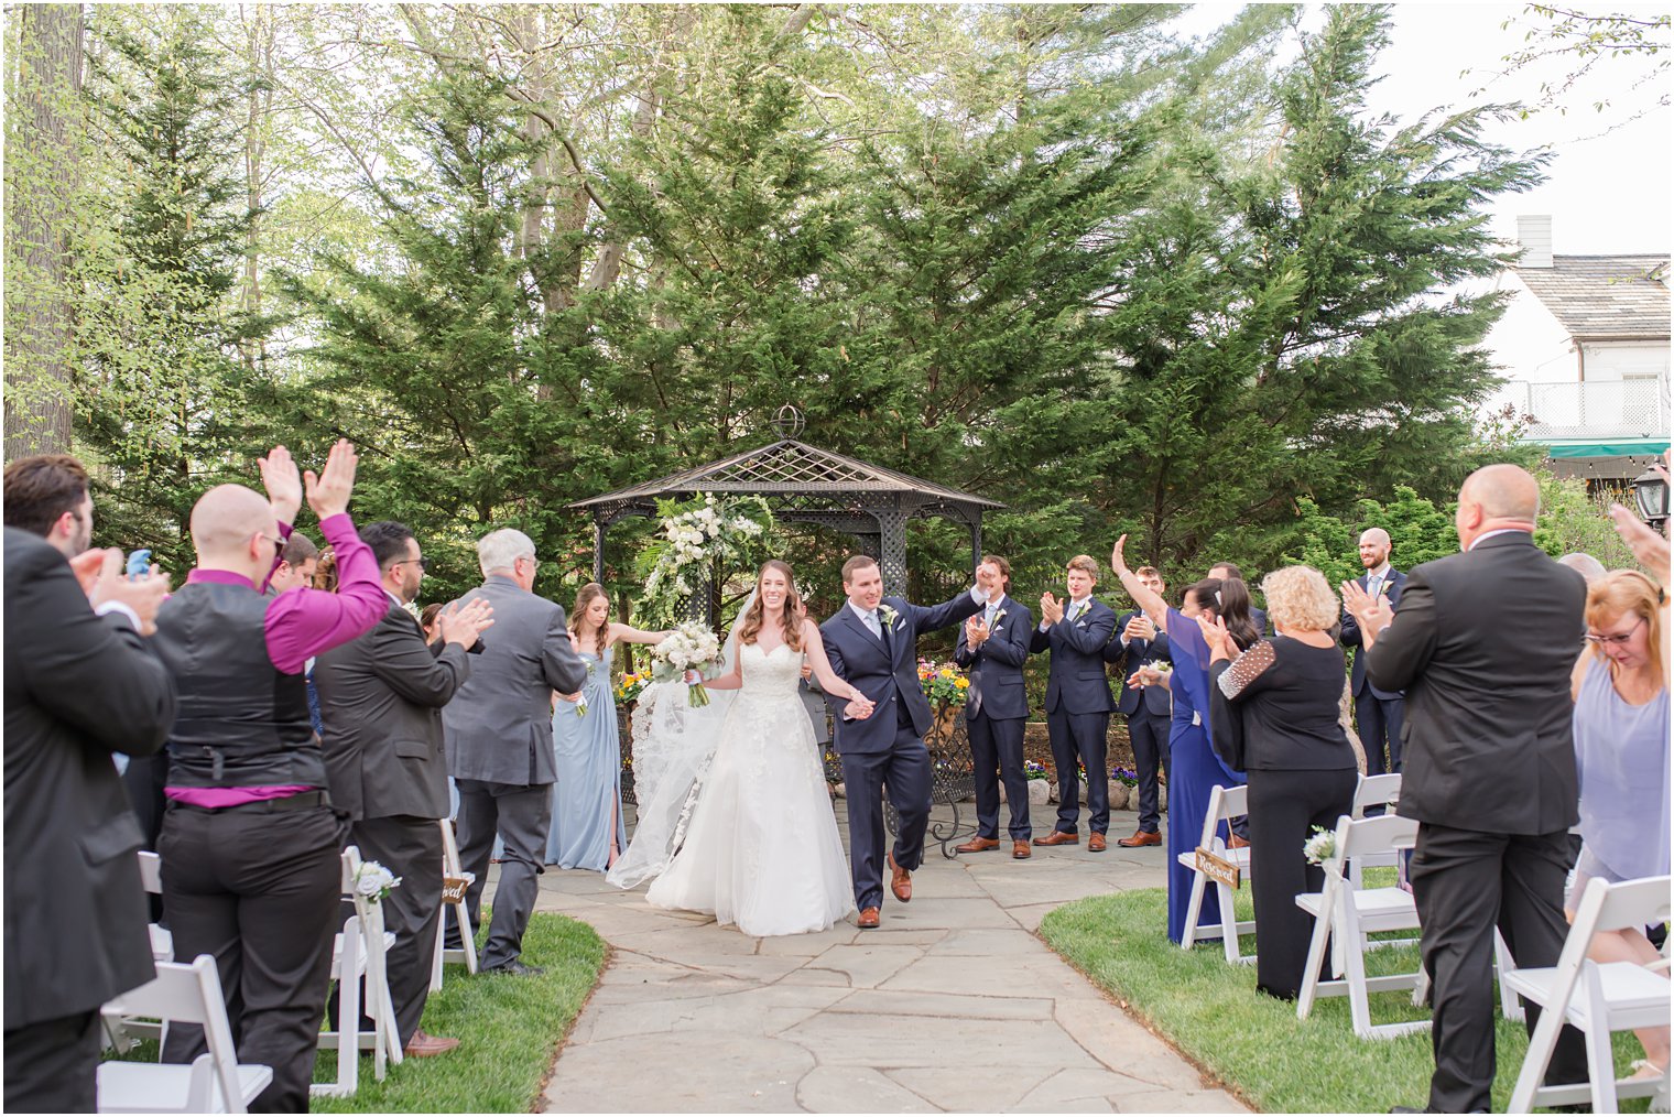
<path fill-rule="evenodd" d="M 90 1114 L 99 1006 L 156 976 L 110 754 L 154 754 L 174 722 L 142 640 L 169 579 L 129 581 L 121 551 L 85 549 L 74 457 L 13 462 L 5 522 L 5 1109 Z"/>

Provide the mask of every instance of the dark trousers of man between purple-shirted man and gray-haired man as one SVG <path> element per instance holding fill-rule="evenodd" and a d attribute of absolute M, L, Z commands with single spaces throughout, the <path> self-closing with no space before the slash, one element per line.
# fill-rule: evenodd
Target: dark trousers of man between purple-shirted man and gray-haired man
<path fill-rule="evenodd" d="M 442 829 L 435 819 L 395 816 L 360 819 L 348 841 L 363 861 L 377 861 L 402 878 L 383 901 L 383 929 L 395 933 L 390 948 L 390 1000 L 402 1043 L 413 1038 L 435 968 L 435 928 L 442 918 Z M 362 998 L 365 1003 L 365 998 Z"/>

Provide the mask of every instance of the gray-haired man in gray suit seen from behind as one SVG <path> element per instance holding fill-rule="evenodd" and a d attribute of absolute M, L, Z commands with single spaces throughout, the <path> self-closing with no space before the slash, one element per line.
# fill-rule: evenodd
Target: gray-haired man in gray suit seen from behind
<path fill-rule="evenodd" d="M 536 973 L 519 961 L 552 821 L 552 692 L 574 693 L 588 667 L 569 643 L 564 610 L 534 596 L 534 541 L 502 528 L 477 543 L 484 581 L 460 601 L 494 606 L 494 640 L 442 712 L 449 772 L 459 785 L 459 857 L 477 879 L 465 909 L 477 923 L 494 834 L 506 842 L 482 968 Z"/>

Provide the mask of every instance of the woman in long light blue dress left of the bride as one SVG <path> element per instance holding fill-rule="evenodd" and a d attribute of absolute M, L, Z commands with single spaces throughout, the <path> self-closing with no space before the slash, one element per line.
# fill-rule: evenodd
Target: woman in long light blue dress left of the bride
<path fill-rule="evenodd" d="M 628 846 L 623 829 L 623 754 L 611 688 L 611 646 L 660 643 L 666 631 L 648 633 L 611 620 L 604 586 L 588 583 L 569 615 L 569 640 L 588 665 L 588 682 L 573 695 L 552 695 L 552 824 L 546 862 L 561 869 L 604 872 Z"/>

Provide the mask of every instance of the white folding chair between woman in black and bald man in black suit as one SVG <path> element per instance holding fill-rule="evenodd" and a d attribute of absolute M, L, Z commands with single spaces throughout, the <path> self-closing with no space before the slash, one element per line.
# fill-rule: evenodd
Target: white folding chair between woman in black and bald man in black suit
<path fill-rule="evenodd" d="M 1401 888 L 1354 888 L 1344 872 L 1371 854 L 1410 849 L 1418 839 L 1418 822 L 1394 814 L 1373 819 L 1338 819 L 1336 854 L 1326 861 L 1326 888 L 1322 893 L 1301 893 L 1297 908 L 1314 916 L 1314 936 L 1307 945 L 1307 961 L 1302 966 L 1302 990 L 1296 998 L 1296 1018 L 1307 1020 L 1316 996 L 1349 998 L 1349 1018 L 1354 1035 L 1363 1040 L 1386 1040 L 1410 1032 L 1423 1032 L 1428 1020 L 1401 1023 L 1371 1022 L 1371 993 L 1384 990 L 1410 990 L 1420 973 L 1398 973 L 1378 978 L 1366 976 L 1366 936 L 1376 931 L 1406 931 L 1418 928 L 1418 906 L 1413 894 Z M 1343 975 L 1334 981 L 1319 980 L 1319 966 L 1331 945 L 1331 973 Z"/>

